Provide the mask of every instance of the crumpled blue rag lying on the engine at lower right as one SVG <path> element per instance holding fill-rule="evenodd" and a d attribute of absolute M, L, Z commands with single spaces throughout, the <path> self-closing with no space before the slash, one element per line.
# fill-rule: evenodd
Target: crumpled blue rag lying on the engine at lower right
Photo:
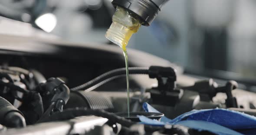
<path fill-rule="evenodd" d="M 148 103 L 143 104 L 146 112 L 156 112 Z M 199 131 L 209 131 L 217 135 L 256 135 L 256 117 L 228 109 L 192 110 L 175 119 L 162 117 L 161 121 L 139 116 L 142 123 L 148 125 L 178 124 Z"/>

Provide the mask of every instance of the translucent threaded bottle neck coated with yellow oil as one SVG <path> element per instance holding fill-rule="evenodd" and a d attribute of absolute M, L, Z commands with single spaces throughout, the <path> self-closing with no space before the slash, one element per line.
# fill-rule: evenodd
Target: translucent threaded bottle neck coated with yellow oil
<path fill-rule="evenodd" d="M 116 7 L 112 21 L 105 37 L 125 49 L 131 35 L 140 28 L 141 21 L 119 6 Z"/>

